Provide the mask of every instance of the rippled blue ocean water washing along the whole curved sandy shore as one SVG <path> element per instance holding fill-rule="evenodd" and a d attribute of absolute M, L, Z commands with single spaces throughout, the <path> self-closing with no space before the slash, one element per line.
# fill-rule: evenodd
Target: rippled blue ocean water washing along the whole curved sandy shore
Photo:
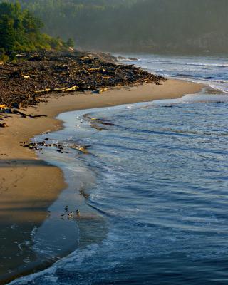
<path fill-rule="evenodd" d="M 134 57 L 127 62 L 218 91 L 59 115 L 65 128 L 50 138 L 63 153 L 41 157 L 69 187 L 33 248 L 68 254 L 12 284 L 228 284 L 228 59 Z M 80 217 L 60 220 L 66 204 Z"/>

